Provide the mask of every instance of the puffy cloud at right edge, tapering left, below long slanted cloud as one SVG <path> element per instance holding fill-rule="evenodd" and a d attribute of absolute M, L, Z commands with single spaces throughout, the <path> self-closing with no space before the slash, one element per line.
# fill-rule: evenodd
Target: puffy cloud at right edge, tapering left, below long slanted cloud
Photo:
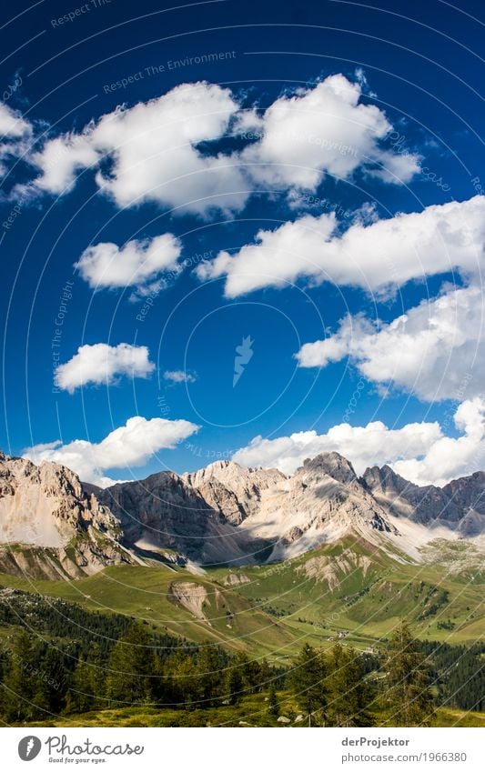
<path fill-rule="evenodd" d="M 480 394 L 485 381 L 485 300 L 480 286 L 449 289 L 389 324 L 345 318 L 326 340 L 307 343 L 301 367 L 349 356 L 362 376 L 429 402 Z"/>

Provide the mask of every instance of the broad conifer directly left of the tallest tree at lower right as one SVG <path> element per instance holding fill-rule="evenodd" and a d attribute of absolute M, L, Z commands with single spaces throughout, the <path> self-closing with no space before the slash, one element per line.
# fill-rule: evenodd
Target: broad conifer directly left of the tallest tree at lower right
<path fill-rule="evenodd" d="M 351 647 L 337 644 L 330 652 L 329 662 L 328 713 L 332 723 L 337 727 L 372 726 L 371 690 L 365 681 L 358 653 Z"/>

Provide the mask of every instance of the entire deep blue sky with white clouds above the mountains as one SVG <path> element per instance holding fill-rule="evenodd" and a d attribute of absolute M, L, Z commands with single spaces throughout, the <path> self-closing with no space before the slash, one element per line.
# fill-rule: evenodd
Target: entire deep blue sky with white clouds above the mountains
<path fill-rule="evenodd" d="M 5 453 L 485 468 L 478 0 L 0 22 Z"/>

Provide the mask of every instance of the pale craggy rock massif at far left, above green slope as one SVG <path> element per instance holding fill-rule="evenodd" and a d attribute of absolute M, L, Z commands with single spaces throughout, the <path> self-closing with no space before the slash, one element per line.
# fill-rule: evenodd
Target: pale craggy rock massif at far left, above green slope
<path fill-rule="evenodd" d="M 122 561 L 116 517 L 66 466 L 0 454 L 0 570 L 84 576 Z"/>

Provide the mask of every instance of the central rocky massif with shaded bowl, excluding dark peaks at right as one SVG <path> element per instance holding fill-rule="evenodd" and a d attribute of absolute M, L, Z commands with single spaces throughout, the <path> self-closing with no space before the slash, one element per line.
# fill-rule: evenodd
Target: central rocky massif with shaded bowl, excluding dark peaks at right
<path fill-rule="evenodd" d="M 96 494 L 127 542 L 171 548 L 206 563 L 261 563 L 298 555 L 349 532 L 395 534 L 386 511 L 338 453 L 308 460 L 292 477 L 221 461 Z"/>

